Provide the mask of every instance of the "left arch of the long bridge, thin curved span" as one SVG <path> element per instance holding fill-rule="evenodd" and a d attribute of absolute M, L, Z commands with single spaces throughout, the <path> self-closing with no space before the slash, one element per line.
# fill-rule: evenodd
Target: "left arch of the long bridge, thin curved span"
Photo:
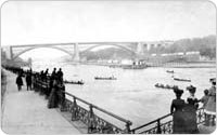
<path fill-rule="evenodd" d="M 50 49 L 55 49 L 55 50 L 60 50 L 68 55 L 71 55 L 73 58 L 75 57 L 75 53 L 71 53 L 69 51 L 66 51 L 64 49 L 58 48 L 58 46 L 33 46 L 26 50 L 21 51 L 18 54 L 16 54 L 15 56 L 12 57 L 12 59 L 16 59 L 20 55 L 30 51 L 30 50 L 35 50 L 35 49 L 40 49 L 40 48 L 50 48 Z"/>

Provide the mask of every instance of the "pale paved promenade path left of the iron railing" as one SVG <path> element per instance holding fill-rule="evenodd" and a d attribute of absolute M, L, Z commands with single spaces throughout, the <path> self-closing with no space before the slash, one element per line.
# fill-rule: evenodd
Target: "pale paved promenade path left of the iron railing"
<path fill-rule="evenodd" d="M 8 72 L 3 100 L 2 131 L 7 134 L 80 134 L 56 111 L 48 109 L 44 96 L 34 91 L 21 92 L 15 85 L 15 75 Z M 23 79 L 24 81 L 24 79 Z"/>

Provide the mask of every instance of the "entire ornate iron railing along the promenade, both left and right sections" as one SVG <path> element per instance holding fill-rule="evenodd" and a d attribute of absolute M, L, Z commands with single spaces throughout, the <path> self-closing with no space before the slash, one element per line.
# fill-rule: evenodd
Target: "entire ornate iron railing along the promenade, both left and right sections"
<path fill-rule="evenodd" d="M 20 69 L 8 69 L 12 70 L 14 73 L 20 72 Z M 24 72 L 25 73 L 25 72 Z M 41 95 L 46 95 L 48 98 L 51 87 L 50 87 L 50 79 L 49 77 L 46 80 L 41 80 L 40 76 L 37 76 L 36 72 L 34 76 L 34 90 L 39 92 Z M 86 125 L 88 125 L 88 133 L 100 133 L 100 134 L 117 134 L 117 133 L 128 133 L 128 134 L 171 134 L 173 133 L 173 114 L 168 113 L 161 118 L 157 118 L 154 121 L 151 121 L 146 124 L 140 125 L 130 130 L 130 125 L 132 124 L 129 120 L 126 120 L 122 117 L 118 117 L 110 111 L 106 111 L 95 105 L 92 105 L 71 93 L 65 92 L 65 86 L 60 84 L 58 90 L 59 95 L 59 107 L 61 111 L 69 111 L 72 113 L 72 121 L 82 121 Z M 66 98 L 66 95 L 71 97 L 73 100 Z M 80 102 L 88 106 L 87 108 L 81 107 L 77 104 Z M 94 110 L 94 111 L 93 111 Z M 104 120 L 102 117 L 95 114 L 95 110 L 107 114 L 120 122 L 125 123 L 125 127 L 118 127 L 117 125 Z M 197 109 L 196 111 L 197 124 L 202 124 L 205 121 L 204 110 L 203 108 Z"/>

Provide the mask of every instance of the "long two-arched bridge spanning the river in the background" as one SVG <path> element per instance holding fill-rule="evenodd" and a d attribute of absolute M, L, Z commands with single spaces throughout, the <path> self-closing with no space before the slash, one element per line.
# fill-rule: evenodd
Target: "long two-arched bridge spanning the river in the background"
<path fill-rule="evenodd" d="M 72 43 L 43 43 L 43 44 L 25 44 L 25 45 L 11 45 L 4 49 L 7 57 L 9 59 L 15 59 L 20 55 L 39 48 L 51 48 L 56 49 L 66 54 L 71 55 L 74 60 L 80 59 L 80 54 L 85 54 L 86 52 L 103 46 L 111 45 L 116 46 L 122 50 L 130 52 L 132 56 L 144 55 L 145 51 L 149 51 L 151 48 L 158 48 L 161 45 L 165 45 L 159 42 L 72 42 Z"/>

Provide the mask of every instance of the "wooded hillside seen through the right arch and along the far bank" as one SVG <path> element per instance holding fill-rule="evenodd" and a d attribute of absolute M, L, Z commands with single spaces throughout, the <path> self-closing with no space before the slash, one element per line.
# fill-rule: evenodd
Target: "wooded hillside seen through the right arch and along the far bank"
<path fill-rule="evenodd" d="M 149 54 L 157 53 L 177 53 L 177 52 L 200 52 L 202 56 L 210 59 L 216 58 L 216 36 L 207 36 L 203 38 L 180 39 L 167 46 L 151 48 L 145 51 Z M 112 58 L 130 58 L 131 54 L 127 51 L 108 48 L 97 52 L 89 51 L 85 54 L 87 59 L 112 59 Z"/>

